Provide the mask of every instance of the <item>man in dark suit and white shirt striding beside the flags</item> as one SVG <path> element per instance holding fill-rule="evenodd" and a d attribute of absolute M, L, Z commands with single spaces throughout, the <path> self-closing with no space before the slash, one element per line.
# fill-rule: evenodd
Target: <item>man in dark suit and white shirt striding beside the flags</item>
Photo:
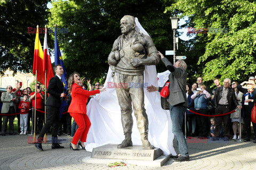
<path fill-rule="evenodd" d="M 46 131 L 53 125 L 52 128 L 52 149 L 64 148 L 58 143 L 58 129 L 60 124 L 60 113 L 59 109 L 61 106 L 61 98 L 65 97 L 63 92 L 63 83 L 61 80 L 61 76 L 63 74 L 63 69 L 60 64 L 54 66 L 54 71 L 56 73 L 55 77 L 51 78 L 49 82 L 49 86 L 47 87 L 47 93 L 49 97 L 46 100 L 46 123 L 41 130 L 35 147 L 39 150 L 43 150 L 42 148 L 42 140 Z"/>

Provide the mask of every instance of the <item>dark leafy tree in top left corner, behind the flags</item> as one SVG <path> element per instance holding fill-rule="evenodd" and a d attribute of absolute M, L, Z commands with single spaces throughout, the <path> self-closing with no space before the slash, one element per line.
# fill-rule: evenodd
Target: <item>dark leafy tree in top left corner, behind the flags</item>
<path fill-rule="evenodd" d="M 3 0 L 0 2 L 0 74 L 10 68 L 30 72 L 33 67 L 35 33 L 28 28 L 36 25 L 44 28 L 47 1 Z M 33 32 L 33 30 L 30 30 Z M 43 34 L 42 34 L 43 35 Z M 40 37 L 42 42 L 43 36 Z"/>

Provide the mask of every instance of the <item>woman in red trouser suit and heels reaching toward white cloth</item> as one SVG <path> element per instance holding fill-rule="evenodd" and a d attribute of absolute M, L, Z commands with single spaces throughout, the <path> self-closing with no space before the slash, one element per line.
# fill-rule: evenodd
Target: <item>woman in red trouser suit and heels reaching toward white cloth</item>
<path fill-rule="evenodd" d="M 73 150 L 79 150 L 76 147 L 79 138 L 80 141 L 78 145 L 85 149 L 84 142 L 86 142 L 87 133 L 91 126 L 89 117 L 86 114 L 87 99 L 91 95 L 99 94 L 100 92 L 105 91 L 105 88 L 87 91 L 79 86 L 79 83 L 81 83 L 80 75 L 77 72 L 72 73 L 68 78 L 68 92 L 71 92 L 72 97 L 68 112 L 78 125 L 78 129 L 76 130 L 73 140 L 70 143 L 70 149 L 72 148 Z"/>

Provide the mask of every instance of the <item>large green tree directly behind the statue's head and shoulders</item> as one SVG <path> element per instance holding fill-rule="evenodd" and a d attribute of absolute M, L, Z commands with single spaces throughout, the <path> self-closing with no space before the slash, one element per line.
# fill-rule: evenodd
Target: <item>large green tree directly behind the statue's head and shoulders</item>
<path fill-rule="evenodd" d="M 63 62 L 68 74 L 73 71 L 92 79 L 104 77 L 108 71 L 107 58 L 115 39 L 121 35 L 119 22 L 124 15 L 139 19 L 158 50 L 172 49 L 171 12 L 163 13 L 172 1 L 55 1 L 50 9 L 49 25 L 68 28 L 58 34 Z M 158 71 L 166 70 L 161 64 Z M 93 80 L 94 79 L 94 80 Z"/>

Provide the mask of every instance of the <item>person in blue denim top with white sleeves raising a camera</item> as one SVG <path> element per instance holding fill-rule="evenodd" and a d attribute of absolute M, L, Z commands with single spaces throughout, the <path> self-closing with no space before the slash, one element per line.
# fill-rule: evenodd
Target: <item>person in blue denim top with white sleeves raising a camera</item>
<path fill-rule="evenodd" d="M 208 91 L 206 91 L 206 86 L 201 84 L 199 88 L 196 88 L 197 92 L 191 96 L 191 99 L 194 99 L 195 110 L 197 113 L 207 115 L 207 102 L 211 97 Z M 196 115 L 198 122 L 198 130 L 199 130 L 199 139 L 207 138 L 208 133 L 208 117 Z"/>

